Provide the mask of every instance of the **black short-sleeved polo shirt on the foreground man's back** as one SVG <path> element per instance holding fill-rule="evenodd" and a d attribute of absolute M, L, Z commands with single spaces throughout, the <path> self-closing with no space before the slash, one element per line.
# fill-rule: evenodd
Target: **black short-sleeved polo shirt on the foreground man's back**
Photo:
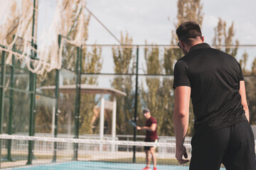
<path fill-rule="evenodd" d="M 191 87 L 196 134 L 247 120 L 239 93 L 244 80 L 235 57 L 206 43 L 191 47 L 174 67 L 174 89 Z"/>

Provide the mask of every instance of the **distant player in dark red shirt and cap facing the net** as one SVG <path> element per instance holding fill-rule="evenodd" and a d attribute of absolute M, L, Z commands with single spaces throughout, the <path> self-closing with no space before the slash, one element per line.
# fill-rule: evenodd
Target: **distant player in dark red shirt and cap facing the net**
<path fill-rule="evenodd" d="M 143 114 L 146 118 L 146 125 L 143 127 L 137 126 L 137 130 L 146 130 L 145 142 L 156 142 L 158 139 L 157 133 L 156 133 L 156 127 L 157 127 L 156 119 L 151 116 L 148 108 L 145 108 L 143 110 Z M 146 167 L 142 170 L 151 170 L 149 167 L 150 165 L 149 153 L 151 154 L 153 159 L 154 170 L 156 170 L 155 147 L 144 147 L 144 150 L 146 152 Z"/>

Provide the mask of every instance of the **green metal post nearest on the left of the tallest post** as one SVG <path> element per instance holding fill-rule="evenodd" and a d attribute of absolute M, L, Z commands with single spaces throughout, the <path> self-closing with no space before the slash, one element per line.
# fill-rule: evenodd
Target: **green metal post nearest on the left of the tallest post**
<path fill-rule="evenodd" d="M 15 48 L 15 44 L 14 44 Z M 11 58 L 11 88 L 14 88 L 14 67 L 15 67 L 15 56 L 12 55 Z M 13 123 L 13 103 L 14 103 L 14 90 L 10 89 L 10 104 L 9 104 L 9 121 L 8 121 L 8 134 L 12 134 L 12 123 Z M 8 140 L 8 147 L 7 147 L 7 160 L 13 161 L 11 159 L 11 140 Z"/>

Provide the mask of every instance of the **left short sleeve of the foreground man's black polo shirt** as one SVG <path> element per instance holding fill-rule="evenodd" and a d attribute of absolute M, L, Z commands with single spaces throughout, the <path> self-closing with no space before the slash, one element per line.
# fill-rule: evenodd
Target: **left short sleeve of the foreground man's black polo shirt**
<path fill-rule="evenodd" d="M 177 86 L 191 86 L 188 79 L 188 65 L 183 60 L 178 60 L 174 66 L 174 90 Z"/>

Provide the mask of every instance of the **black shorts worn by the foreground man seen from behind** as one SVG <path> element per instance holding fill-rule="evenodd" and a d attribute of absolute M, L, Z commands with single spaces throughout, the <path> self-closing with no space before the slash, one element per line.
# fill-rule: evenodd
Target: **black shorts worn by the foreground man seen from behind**
<path fill-rule="evenodd" d="M 191 140 L 190 170 L 255 170 L 255 140 L 247 121 L 221 128 Z"/>

